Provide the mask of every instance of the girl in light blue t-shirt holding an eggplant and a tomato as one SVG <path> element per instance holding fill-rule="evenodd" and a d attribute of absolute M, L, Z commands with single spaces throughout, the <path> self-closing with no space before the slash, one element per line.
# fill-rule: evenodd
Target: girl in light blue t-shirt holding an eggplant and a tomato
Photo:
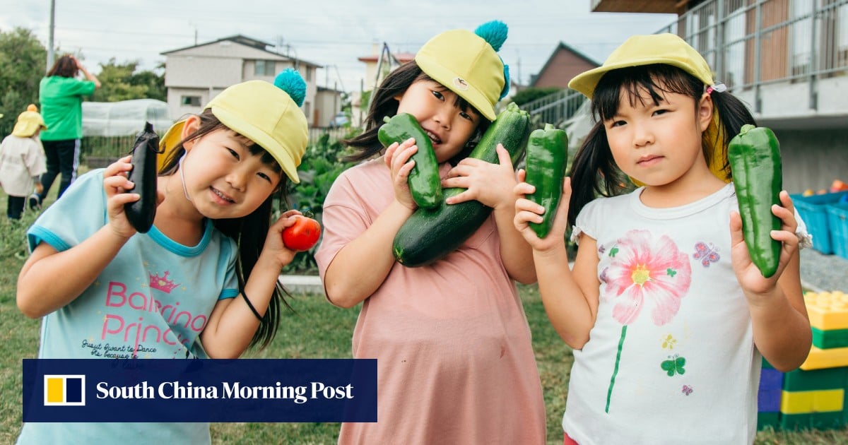
<path fill-rule="evenodd" d="M 286 70 L 275 84 L 230 86 L 171 128 L 181 141 L 165 147 L 147 233 L 124 213 L 139 198 L 129 156 L 82 175 L 36 220 L 17 302 L 42 317 L 39 359 L 234 359 L 271 342 L 285 303 L 278 277 L 295 253 L 282 231 L 298 214 L 273 221 L 271 205 L 298 182 L 307 140 L 303 79 Z M 18 442 L 69 437 L 210 442 L 208 423 L 27 423 Z"/>

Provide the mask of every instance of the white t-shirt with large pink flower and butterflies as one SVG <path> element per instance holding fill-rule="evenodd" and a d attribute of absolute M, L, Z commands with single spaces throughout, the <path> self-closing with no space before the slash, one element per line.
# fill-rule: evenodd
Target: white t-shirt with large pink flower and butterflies
<path fill-rule="evenodd" d="M 668 209 L 642 190 L 577 216 L 572 236 L 597 242 L 600 303 L 563 429 L 581 445 L 750 443 L 762 356 L 730 261 L 734 186 Z"/>

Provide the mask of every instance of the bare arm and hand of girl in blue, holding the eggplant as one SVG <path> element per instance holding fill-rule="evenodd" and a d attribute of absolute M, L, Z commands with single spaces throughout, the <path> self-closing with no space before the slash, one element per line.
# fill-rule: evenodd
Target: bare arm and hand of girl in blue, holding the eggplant
<path fill-rule="evenodd" d="M 124 214 L 124 204 L 137 201 L 137 193 L 126 179 L 130 158 L 120 159 L 103 171 L 109 224 L 63 252 L 45 242 L 38 245 L 18 275 L 17 303 L 26 316 L 39 318 L 62 308 L 91 286 L 126 241 L 136 233 Z M 56 277 L 73 277 L 57 280 Z"/>

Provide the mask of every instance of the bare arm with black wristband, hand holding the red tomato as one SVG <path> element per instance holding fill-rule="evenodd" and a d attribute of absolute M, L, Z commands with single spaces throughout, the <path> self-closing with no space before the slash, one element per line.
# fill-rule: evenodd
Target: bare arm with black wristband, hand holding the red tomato
<path fill-rule="evenodd" d="M 292 262 L 296 253 L 282 242 L 282 231 L 295 223 L 293 216 L 297 214 L 300 214 L 297 210 L 288 210 L 268 229 L 262 253 L 259 253 L 259 259 L 244 284 L 243 293 L 215 303 L 209 321 L 200 333 L 200 340 L 210 358 L 237 359 L 250 345 L 259 328 L 259 320 L 244 300 L 247 298 L 260 316 L 265 315 L 276 281 L 280 278 L 280 270 Z"/>

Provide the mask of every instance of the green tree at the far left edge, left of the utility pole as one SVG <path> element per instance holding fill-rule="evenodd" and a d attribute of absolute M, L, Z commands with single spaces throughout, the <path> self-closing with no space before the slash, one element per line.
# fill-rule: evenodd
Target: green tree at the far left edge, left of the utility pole
<path fill-rule="evenodd" d="M 0 135 L 12 132 L 18 114 L 38 103 L 38 82 L 47 71 L 47 49 L 32 31 L 0 32 Z M 0 137 L 2 137 L 0 136 Z"/>

